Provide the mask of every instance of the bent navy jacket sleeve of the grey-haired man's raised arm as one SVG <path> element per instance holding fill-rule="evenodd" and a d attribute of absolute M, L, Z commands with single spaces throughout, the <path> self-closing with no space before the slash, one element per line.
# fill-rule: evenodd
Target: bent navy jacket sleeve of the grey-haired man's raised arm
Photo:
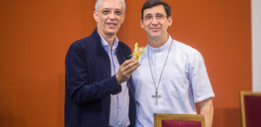
<path fill-rule="evenodd" d="M 88 104 L 121 92 L 121 85 L 118 85 L 115 75 L 90 84 L 87 64 L 83 48 L 78 43 L 73 43 L 66 55 L 66 92 L 76 104 Z"/>

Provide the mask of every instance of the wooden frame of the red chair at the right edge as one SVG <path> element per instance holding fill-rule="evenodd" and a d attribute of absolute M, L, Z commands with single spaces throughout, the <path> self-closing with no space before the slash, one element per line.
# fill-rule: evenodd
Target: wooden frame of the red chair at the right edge
<path fill-rule="evenodd" d="M 261 96 L 261 92 L 240 92 L 240 106 L 241 106 L 241 116 L 242 116 L 242 127 L 246 127 L 246 118 L 245 118 L 245 98 L 244 96 Z"/>

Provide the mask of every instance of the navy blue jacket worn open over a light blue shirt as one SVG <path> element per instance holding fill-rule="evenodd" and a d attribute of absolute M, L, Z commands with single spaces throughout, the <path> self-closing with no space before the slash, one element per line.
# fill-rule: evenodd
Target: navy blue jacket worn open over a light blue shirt
<path fill-rule="evenodd" d="M 116 56 L 120 65 L 130 59 L 131 49 L 119 42 Z M 66 55 L 66 93 L 64 123 L 66 127 L 109 126 L 111 94 L 121 92 L 115 75 L 111 76 L 111 62 L 101 44 L 97 30 L 87 38 L 77 40 Z M 129 118 L 135 126 L 135 95 L 132 79 L 128 79 L 130 93 Z"/>

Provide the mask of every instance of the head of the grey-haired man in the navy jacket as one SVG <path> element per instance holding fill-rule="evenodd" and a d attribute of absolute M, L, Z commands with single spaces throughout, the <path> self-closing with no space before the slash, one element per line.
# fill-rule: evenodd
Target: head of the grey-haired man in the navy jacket
<path fill-rule="evenodd" d="M 101 35 L 116 35 L 124 21 L 123 6 L 120 0 L 103 0 L 93 17 Z"/>

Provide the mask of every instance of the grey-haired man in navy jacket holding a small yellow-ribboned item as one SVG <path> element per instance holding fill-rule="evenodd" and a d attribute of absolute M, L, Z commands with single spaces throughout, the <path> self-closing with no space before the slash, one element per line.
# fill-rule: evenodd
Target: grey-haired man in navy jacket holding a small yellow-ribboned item
<path fill-rule="evenodd" d="M 131 74 L 140 65 L 116 33 L 124 0 L 97 0 L 97 28 L 77 40 L 66 55 L 65 126 L 135 126 Z M 129 79 L 130 78 L 130 79 Z"/>

